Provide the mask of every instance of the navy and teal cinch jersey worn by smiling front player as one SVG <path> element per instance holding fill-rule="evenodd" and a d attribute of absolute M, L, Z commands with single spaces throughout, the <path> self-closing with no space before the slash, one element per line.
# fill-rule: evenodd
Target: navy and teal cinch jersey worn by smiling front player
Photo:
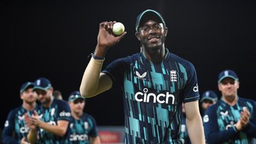
<path fill-rule="evenodd" d="M 179 143 L 182 102 L 199 99 L 194 66 L 166 49 L 159 63 L 143 53 L 115 60 L 102 73 L 121 85 L 125 143 Z"/>

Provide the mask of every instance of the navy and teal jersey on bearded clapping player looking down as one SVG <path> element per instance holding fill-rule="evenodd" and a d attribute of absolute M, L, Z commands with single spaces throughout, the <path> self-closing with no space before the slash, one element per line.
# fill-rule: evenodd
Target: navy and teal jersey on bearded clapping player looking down
<path fill-rule="evenodd" d="M 39 110 L 38 115 L 41 121 L 52 125 L 57 125 L 59 120 L 70 121 L 71 118 L 71 111 L 68 102 L 63 100 L 53 99 L 49 108 L 44 108 L 41 105 Z M 39 129 L 38 133 L 38 143 L 67 143 L 66 135 L 65 137 L 58 137 L 44 129 Z"/>

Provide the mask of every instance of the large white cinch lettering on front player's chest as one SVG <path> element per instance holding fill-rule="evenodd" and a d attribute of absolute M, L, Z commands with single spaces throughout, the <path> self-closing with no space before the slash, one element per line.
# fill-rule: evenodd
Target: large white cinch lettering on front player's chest
<path fill-rule="evenodd" d="M 141 102 L 141 101 L 149 102 L 149 98 L 153 97 L 154 98 L 154 100 L 153 100 L 154 103 L 156 103 L 156 101 L 158 103 L 168 103 L 169 98 L 171 97 L 172 98 L 172 104 L 174 104 L 175 97 L 174 97 L 174 95 L 169 94 L 169 92 L 166 92 L 166 94 L 160 93 L 158 95 L 156 95 L 155 93 L 148 93 L 147 94 L 147 92 L 148 92 L 147 88 L 143 89 L 143 92 L 145 92 L 145 93 L 142 93 L 142 92 L 135 93 L 135 100 L 137 100 L 139 102 Z M 139 95 L 143 95 L 144 97 L 143 98 L 142 97 L 138 98 Z M 166 99 L 165 100 L 160 100 L 160 97 L 166 97 Z"/>

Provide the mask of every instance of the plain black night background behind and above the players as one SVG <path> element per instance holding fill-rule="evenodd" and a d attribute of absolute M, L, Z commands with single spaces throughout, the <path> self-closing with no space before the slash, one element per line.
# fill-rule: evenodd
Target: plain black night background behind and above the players
<path fill-rule="evenodd" d="M 255 100 L 253 1 L 5 1 L 2 6 L 1 127 L 9 110 L 21 105 L 24 82 L 49 78 L 66 100 L 79 89 L 100 22 L 116 20 L 127 31 L 107 53 L 103 68 L 139 52 L 135 21 L 146 9 L 162 13 L 169 30 L 165 46 L 194 64 L 201 94 L 211 89 L 220 96 L 218 74 L 233 69 L 241 83 L 238 95 Z M 113 87 L 87 99 L 85 111 L 98 125 L 124 125 L 122 91 Z"/>

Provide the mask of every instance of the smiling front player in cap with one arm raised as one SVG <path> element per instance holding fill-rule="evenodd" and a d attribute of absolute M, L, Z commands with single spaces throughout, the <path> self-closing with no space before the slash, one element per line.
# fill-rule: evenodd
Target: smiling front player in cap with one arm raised
<path fill-rule="evenodd" d="M 81 94 L 90 98 L 110 89 L 113 83 L 121 85 L 125 143 L 136 144 L 180 143 L 185 102 L 190 140 L 204 143 L 196 71 L 192 63 L 165 47 L 167 27 L 162 15 L 154 10 L 139 14 L 135 35 L 142 52 L 115 60 L 100 73 L 106 52 L 126 34 L 113 35 L 114 23 L 100 23 L 98 44 L 83 75 Z"/>

